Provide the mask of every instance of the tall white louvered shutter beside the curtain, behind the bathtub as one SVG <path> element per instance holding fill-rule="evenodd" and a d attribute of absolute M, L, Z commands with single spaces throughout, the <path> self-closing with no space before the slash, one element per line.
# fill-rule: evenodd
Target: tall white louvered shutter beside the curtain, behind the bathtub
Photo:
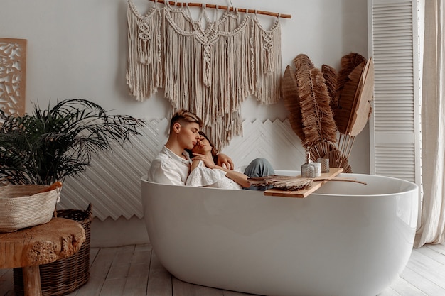
<path fill-rule="evenodd" d="M 375 65 L 370 170 L 420 185 L 417 1 L 369 0 Z"/>

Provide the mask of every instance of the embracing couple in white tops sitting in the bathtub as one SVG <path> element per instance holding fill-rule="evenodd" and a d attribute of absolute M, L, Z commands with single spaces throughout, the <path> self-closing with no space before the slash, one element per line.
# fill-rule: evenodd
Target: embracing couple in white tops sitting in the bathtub
<path fill-rule="evenodd" d="M 186 110 L 176 112 L 170 121 L 167 143 L 151 162 L 148 180 L 170 185 L 265 190 L 250 186 L 247 179 L 273 175 L 269 161 L 257 158 L 245 170 L 234 170 L 232 159 L 216 153 L 200 131 L 202 126 L 196 114 Z"/>

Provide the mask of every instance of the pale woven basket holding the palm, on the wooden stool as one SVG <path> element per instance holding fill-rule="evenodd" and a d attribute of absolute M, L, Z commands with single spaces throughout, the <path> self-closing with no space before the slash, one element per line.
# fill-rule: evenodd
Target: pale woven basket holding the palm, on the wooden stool
<path fill-rule="evenodd" d="M 45 224 L 53 217 L 58 189 L 46 185 L 0 186 L 0 232 Z"/>

